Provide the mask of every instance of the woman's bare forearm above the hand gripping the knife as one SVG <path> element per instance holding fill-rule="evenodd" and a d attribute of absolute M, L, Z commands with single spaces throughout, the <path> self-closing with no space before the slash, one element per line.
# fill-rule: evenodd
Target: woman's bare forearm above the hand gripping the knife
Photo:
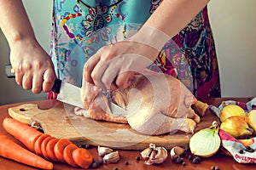
<path fill-rule="evenodd" d="M 0 27 L 10 48 L 22 40 L 35 40 L 32 25 L 21 0 L 0 0 Z"/>

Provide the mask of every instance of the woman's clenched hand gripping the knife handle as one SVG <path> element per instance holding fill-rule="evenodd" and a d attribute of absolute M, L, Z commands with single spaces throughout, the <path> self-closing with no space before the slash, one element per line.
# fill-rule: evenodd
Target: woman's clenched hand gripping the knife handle
<path fill-rule="evenodd" d="M 55 82 L 52 61 L 34 39 L 23 39 L 10 44 L 10 62 L 15 70 L 15 80 L 26 90 L 39 94 L 49 92 Z"/>

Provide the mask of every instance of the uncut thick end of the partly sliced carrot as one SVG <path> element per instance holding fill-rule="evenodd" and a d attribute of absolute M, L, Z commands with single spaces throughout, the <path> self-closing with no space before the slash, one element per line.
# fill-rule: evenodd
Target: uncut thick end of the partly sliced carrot
<path fill-rule="evenodd" d="M 22 144 L 32 151 L 34 151 L 35 141 L 42 134 L 35 128 L 29 127 L 25 123 L 9 117 L 3 119 L 3 127 L 8 133 L 13 135 L 15 139 L 19 139 Z"/>

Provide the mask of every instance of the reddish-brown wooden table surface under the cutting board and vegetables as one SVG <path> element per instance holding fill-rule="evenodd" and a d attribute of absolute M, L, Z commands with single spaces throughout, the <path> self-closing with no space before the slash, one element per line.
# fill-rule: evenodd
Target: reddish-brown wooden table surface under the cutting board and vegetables
<path fill-rule="evenodd" d="M 207 102 L 208 104 L 212 104 L 212 105 L 219 105 L 221 103 L 221 101 L 223 100 L 228 100 L 231 98 L 214 98 L 214 99 L 201 99 L 202 101 Z M 247 102 L 248 100 L 252 99 L 252 98 L 232 98 L 233 100 L 236 101 L 241 101 L 241 102 Z M 27 103 L 34 103 L 34 104 L 38 104 L 40 109 L 49 109 L 50 107 L 52 107 L 53 105 L 55 105 L 55 100 L 42 100 L 42 101 L 32 101 L 32 102 L 27 102 Z M 22 105 L 25 104 L 24 103 L 18 103 L 18 104 L 12 104 L 12 105 L 2 105 L 0 106 L 0 132 L 1 133 L 5 133 L 7 135 L 9 135 L 8 133 L 6 133 L 3 129 L 2 126 L 2 122 L 3 122 L 3 118 L 8 116 L 8 109 L 10 107 L 14 107 L 16 105 Z M 12 138 L 10 136 L 10 138 Z M 14 139 L 14 138 L 12 138 Z M 1 141 L 0 141 L 1 142 Z M 20 144 L 19 141 L 15 140 L 15 142 L 17 142 L 18 144 Z M 89 149 L 90 152 L 92 153 L 94 159 L 96 161 L 101 160 L 102 157 L 101 156 L 97 156 L 97 150 L 95 147 L 92 147 Z M 15 151 L 15 150 L 14 150 Z M 168 150 L 168 154 L 170 150 Z M 185 158 L 185 162 L 186 165 L 183 166 L 181 164 L 177 164 L 173 161 L 171 161 L 170 158 L 170 154 L 168 156 L 168 158 L 166 159 L 166 161 L 164 161 L 162 164 L 160 165 L 145 165 L 144 161 L 137 161 L 136 157 L 140 156 L 140 152 L 139 151 L 135 151 L 135 150 L 119 150 L 119 155 L 120 155 L 120 160 L 118 163 L 113 163 L 113 164 L 106 164 L 103 165 L 101 167 L 98 167 L 97 169 L 113 169 L 114 167 L 118 167 L 118 169 L 132 169 L 132 170 L 143 170 L 143 169 L 196 169 L 196 170 L 203 170 L 203 169 L 211 169 L 212 166 L 218 166 L 220 167 L 220 169 L 224 169 L 224 170 L 231 170 L 231 169 L 235 169 L 235 170 L 240 170 L 240 169 L 255 169 L 256 166 L 255 165 L 249 165 L 249 164 L 239 164 L 237 163 L 232 157 L 230 156 L 224 156 L 220 153 L 216 154 L 215 156 L 212 156 L 210 158 L 207 159 L 203 159 L 199 164 L 194 164 L 193 162 L 189 161 L 188 158 Z M 129 165 L 125 165 L 125 161 L 129 162 Z M 61 169 L 61 170 L 65 170 L 65 169 L 78 169 L 78 168 L 74 168 L 71 166 L 68 166 L 67 164 L 63 164 L 63 163 L 54 163 L 54 169 Z M 8 159 L 5 159 L 3 157 L 0 157 L 0 169 L 4 170 L 4 169 L 19 169 L 19 170 L 23 170 L 23 169 L 35 169 L 33 167 L 28 167 L 26 165 L 20 164 L 18 162 L 15 161 L 11 161 Z"/>

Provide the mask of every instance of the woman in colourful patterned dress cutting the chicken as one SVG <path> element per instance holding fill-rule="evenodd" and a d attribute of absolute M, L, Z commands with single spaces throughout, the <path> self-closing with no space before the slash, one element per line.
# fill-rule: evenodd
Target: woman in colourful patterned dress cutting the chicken
<path fill-rule="evenodd" d="M 49 92 L 55 77 L 78 86 L 84 77 L 100 88 L 126 88 L 136 71 L 148 67 L 178 77 L 196 97 L 220 96 L 209 0 L 53 2 L 50 59 L 21 1 L 0 0 L 0 26 L 24 89 Z"/>

